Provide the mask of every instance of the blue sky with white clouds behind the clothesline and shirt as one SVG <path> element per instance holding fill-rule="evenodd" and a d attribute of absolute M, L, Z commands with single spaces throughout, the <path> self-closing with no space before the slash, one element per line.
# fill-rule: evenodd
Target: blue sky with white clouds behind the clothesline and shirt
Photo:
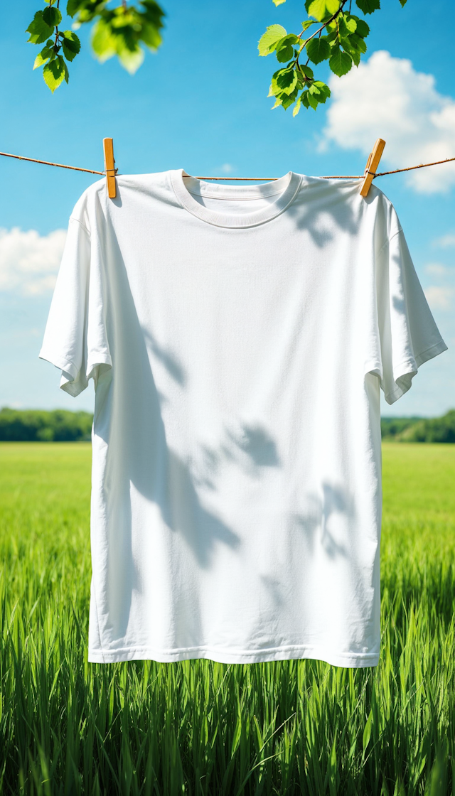
<path fill-rule="evenodd" d="M 267 25 L 299 32 L 303 2 L 163 0 L 163 45 L 130 76 L 99 64 L 83 32 L 69 85 L 54 95 L 32 71 L 38 48 L 25 28 L 42 4 L 3 10 L 0 150 L 103 169 L 112 136 L 124 173 L 184 168 L 189 174 L 280 177 L 360 174 L 367 150 L 386 139 L 384 167 L 455 156 L 455 49 L 449 0 L 430 6 L 382 0 L 371 15 L 363 67 L 333 78 L 327 107 L 292 111 L 267 97 L 274 57 L 257 55 Z M 318 76 L 330 77 L 321 64 Z M 425 172 L 425 174 L 424 174 Z M 430 174 L 431 173 L 431 174 Z M 0 158 L 0 406 L 92 410 L 38 359 L 69 214 L 95 175 Z M 406 234 L 422 287 L 449 350 L 422 365 L 382 414 L 437 416 L 455 407 L 455 170 L 433 166 L 380 178 Z"/>

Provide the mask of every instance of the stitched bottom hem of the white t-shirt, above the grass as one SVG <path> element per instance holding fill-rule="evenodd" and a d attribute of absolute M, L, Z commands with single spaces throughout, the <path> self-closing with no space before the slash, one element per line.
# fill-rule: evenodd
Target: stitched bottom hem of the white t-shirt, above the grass
<path fill-rule="evenodd" d="M 312 658 L 325 661 L 333 666 L 360 669 L 377 666 L 379 653 L 339 653 L 310 646 L 281 646 L 267 650 L 220 650 L 210 647 L 189 647 L 182 650 L 155 650 L 150 647 L 124 647 L 121 650 L 88 650 L 88 663 L 118 663 L 121 661 L 189 661 L 206 658 L 217 663 L 266 663 L 268 661 L 287 661 L 296 658 Z"/>

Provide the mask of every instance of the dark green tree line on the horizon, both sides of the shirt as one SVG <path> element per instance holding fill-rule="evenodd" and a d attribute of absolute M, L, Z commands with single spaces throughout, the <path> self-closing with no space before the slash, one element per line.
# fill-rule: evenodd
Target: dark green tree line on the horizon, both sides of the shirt
<path fill-rule="evenodd" d="M 90 442 L 92 412 L 66 409 L 0 409 L 0 442 Z M 382 417 L 382 439 L 406 443 L 455 443 L 455 409 L 441 417 Z"/>

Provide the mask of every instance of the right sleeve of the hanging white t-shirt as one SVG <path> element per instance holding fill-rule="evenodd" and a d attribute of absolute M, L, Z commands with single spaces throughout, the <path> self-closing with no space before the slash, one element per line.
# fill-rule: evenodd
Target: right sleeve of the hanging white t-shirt
<path fill-rule="evenodd" d="M 387 404 L 410 389 L 418 368 L 448 346 L 422 290 L 398 217 L 391 209 L 389 234 L 376 256 L 380 386 Z"/>

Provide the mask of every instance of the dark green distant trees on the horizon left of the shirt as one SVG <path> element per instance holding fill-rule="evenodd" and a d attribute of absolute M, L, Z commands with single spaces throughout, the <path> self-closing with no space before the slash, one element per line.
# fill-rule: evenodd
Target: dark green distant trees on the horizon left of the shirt
<path fill-rule="evenodd" d="M 76 442 L 92 438 L 90 412 L 0 409 L 2 442 Z"/>

